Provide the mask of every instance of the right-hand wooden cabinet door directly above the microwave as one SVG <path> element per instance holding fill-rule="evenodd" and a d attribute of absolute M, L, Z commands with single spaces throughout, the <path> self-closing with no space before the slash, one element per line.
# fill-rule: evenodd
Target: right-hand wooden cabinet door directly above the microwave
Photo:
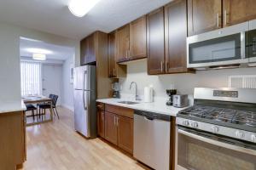
<path fill-rule="evenodd" d="M 255 0 L 223 0 L 223 26 L 256 19 Z"/>

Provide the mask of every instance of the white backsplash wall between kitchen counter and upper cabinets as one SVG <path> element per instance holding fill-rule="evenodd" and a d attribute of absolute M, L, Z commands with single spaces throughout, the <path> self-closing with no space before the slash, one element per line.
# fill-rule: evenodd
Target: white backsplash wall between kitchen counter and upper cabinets
<path fill-rule="evenodd" d="M 167 97 L 166 89 L 175 85 L 181 94 L 193 94 L 196 87 L 223 88 L 228 87 L 230 75 L 256 75 L 256 68 L 225 69 L 214 71 L 197 71 L 196 74 L 176 74 L 162 76 L 148 76 L 147 62 L 138 61 L 127 65 L 127 77 L 119 80 L 122 85 L 121 94 L 131 94 L 131 82 L 137 82 L 138 93 L 143 95 L 143 88 L 152 84 L 157 97 Z"/>

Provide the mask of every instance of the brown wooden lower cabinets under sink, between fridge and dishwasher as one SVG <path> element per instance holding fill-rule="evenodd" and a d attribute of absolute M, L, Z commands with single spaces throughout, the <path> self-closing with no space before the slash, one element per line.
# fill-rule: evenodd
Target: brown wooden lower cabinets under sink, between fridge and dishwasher
<path fill-rule="evenodd" d="M 99 106 L 99 104 L 98 104 Z M 133 153 L 133 110 L 115 105 L 98 109 L 98 135 L 120 149 Z M 103 112 L 103 113 L 102 113 Z M 104 119 L 100 116 L 104 115 Z M 104 120 L 104 122 L 102 122 Z M 102 135 L 102 125 L 105 133 Z"/>

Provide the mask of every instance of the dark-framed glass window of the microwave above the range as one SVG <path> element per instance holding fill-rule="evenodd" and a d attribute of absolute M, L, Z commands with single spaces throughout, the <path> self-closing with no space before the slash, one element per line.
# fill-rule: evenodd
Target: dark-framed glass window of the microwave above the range
<path fill-rule="evenodd" d="M 189 44 L 189 63 L 241 59 L 241 34 Z"/>

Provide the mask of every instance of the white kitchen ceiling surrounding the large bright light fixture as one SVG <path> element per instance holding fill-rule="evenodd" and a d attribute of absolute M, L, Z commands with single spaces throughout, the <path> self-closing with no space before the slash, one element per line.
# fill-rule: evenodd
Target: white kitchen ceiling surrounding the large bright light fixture
<path fill-rule="evenodd" d="M 69 12 L 69 1 L 0 0 L 0 20 L 82 39 L 96 30 L 113 31 L 172 0 L 102 0 L 83 18 Z"/>

